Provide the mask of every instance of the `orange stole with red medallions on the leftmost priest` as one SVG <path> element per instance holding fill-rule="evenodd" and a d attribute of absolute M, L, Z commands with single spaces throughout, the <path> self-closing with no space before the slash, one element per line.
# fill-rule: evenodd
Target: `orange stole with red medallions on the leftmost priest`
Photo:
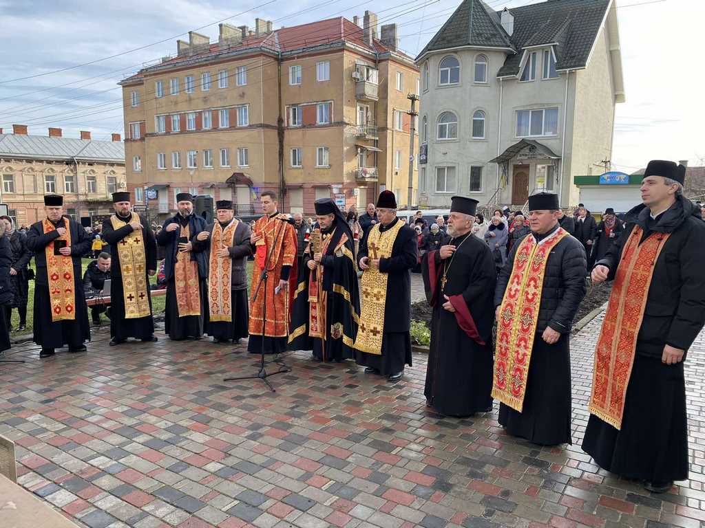
<path fill-rule="evenodd" d="M 64 220 L 66 234 L 54 240 L 66 240 L 66 247 L 71 247 L 71 225 L 68 218 Z M 42 220 L 44 234 L 56 231 L 48 218 Z M 73 284 L 73 259 L 71 256 L 54 255 L 54 240 L 44 248 L 47 257 L 47 278 L 49 279 L 49 303 L 51 303 L 51 322 L 75 320 L 76 298 Z"/>

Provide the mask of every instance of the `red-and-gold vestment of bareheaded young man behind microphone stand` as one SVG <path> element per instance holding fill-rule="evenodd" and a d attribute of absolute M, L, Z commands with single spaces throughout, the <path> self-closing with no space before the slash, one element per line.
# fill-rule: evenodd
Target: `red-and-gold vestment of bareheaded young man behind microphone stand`
<path fill-rule="evenodd" d="M 262 267 L 266 261 L 266 255 L 271 252 L 271 258 L 267 265 L 269 279 L 266 284 L 266 295 L 264 294 L 264 283 L 259 285 L 259 278 L 262 277 L 262 269 L 259 265 L 252 266 L 252 288 L 250 296 L 250 334 L 264 335 L 268 337 L 288 337 L 289 321 L 291 318 L 291 304 L 296 291 L 296 249 L 298 241 L 293 225 L 282 222 L 278 218 L 288 218 L 286 215 L 277 215 L 269 218 L 264 215 L 255 222 L 256 234 L 262 235 L 264 240 L 265 259 L 262 260 Z M 276 244 L 274 239 L 276 238 Z M 281 277 L 281 268 L 291 266 L 288 281 L 288 290 L 275 293 Z M 255 298 L 257 295 L 257 298 Z M 263 321 L 264 299 L 266 298 L 266 323 Z M 253 301 L 254 299 L 254 301 Z"/>

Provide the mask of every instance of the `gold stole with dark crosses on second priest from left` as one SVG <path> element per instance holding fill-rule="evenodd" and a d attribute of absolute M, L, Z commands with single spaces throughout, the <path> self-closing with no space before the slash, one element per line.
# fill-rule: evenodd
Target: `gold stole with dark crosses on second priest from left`
<path fill-rule="evenodd" d="M 140 222 L 140 216 L 132 213 L 130 222 Z M 111 215 L 110 222 L 114 230 L 124 227 L 117 215 Z M 147 296 L 147 257 L 142 230 L 133 231 L 117 244 L 120 272 L 123 280 L 123 300 L 125 301 L 125 319 L 145 318 L 152 313 Z"/>

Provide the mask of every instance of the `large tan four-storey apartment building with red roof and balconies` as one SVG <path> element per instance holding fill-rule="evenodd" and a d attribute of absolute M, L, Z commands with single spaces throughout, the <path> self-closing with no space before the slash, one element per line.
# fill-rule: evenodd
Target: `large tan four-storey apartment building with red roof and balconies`
<path fill-rule="evenodd" d="M 419 73 L 396 25 L 378 38 L 374 13 L 362 23 L 221 24 L 218 42 L 190 32 L 177 56 L 121 81 L 135 203 L 164 218 L 190 191 L 247 215 L 271 189 L 282 210 L 312 214 L 315 199 L 364 207 L 386 188 L 405 204 Z"/>

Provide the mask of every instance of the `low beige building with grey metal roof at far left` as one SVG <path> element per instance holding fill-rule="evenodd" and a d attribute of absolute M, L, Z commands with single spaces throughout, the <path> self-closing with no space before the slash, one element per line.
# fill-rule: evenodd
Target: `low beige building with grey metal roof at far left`
<path fill-rule="evenodd" d="M 125 151 L 120 134 L 111 141 L 63 137 L 61 128 L 46 136 L 27 134 L 26 125 L 0 129 L 0 203 L 16 225 L 44 218 L 44 194 L 63 194 L 66 214 L 90 225 L 112 213 L 111 194 L 125 190 Z"/>

